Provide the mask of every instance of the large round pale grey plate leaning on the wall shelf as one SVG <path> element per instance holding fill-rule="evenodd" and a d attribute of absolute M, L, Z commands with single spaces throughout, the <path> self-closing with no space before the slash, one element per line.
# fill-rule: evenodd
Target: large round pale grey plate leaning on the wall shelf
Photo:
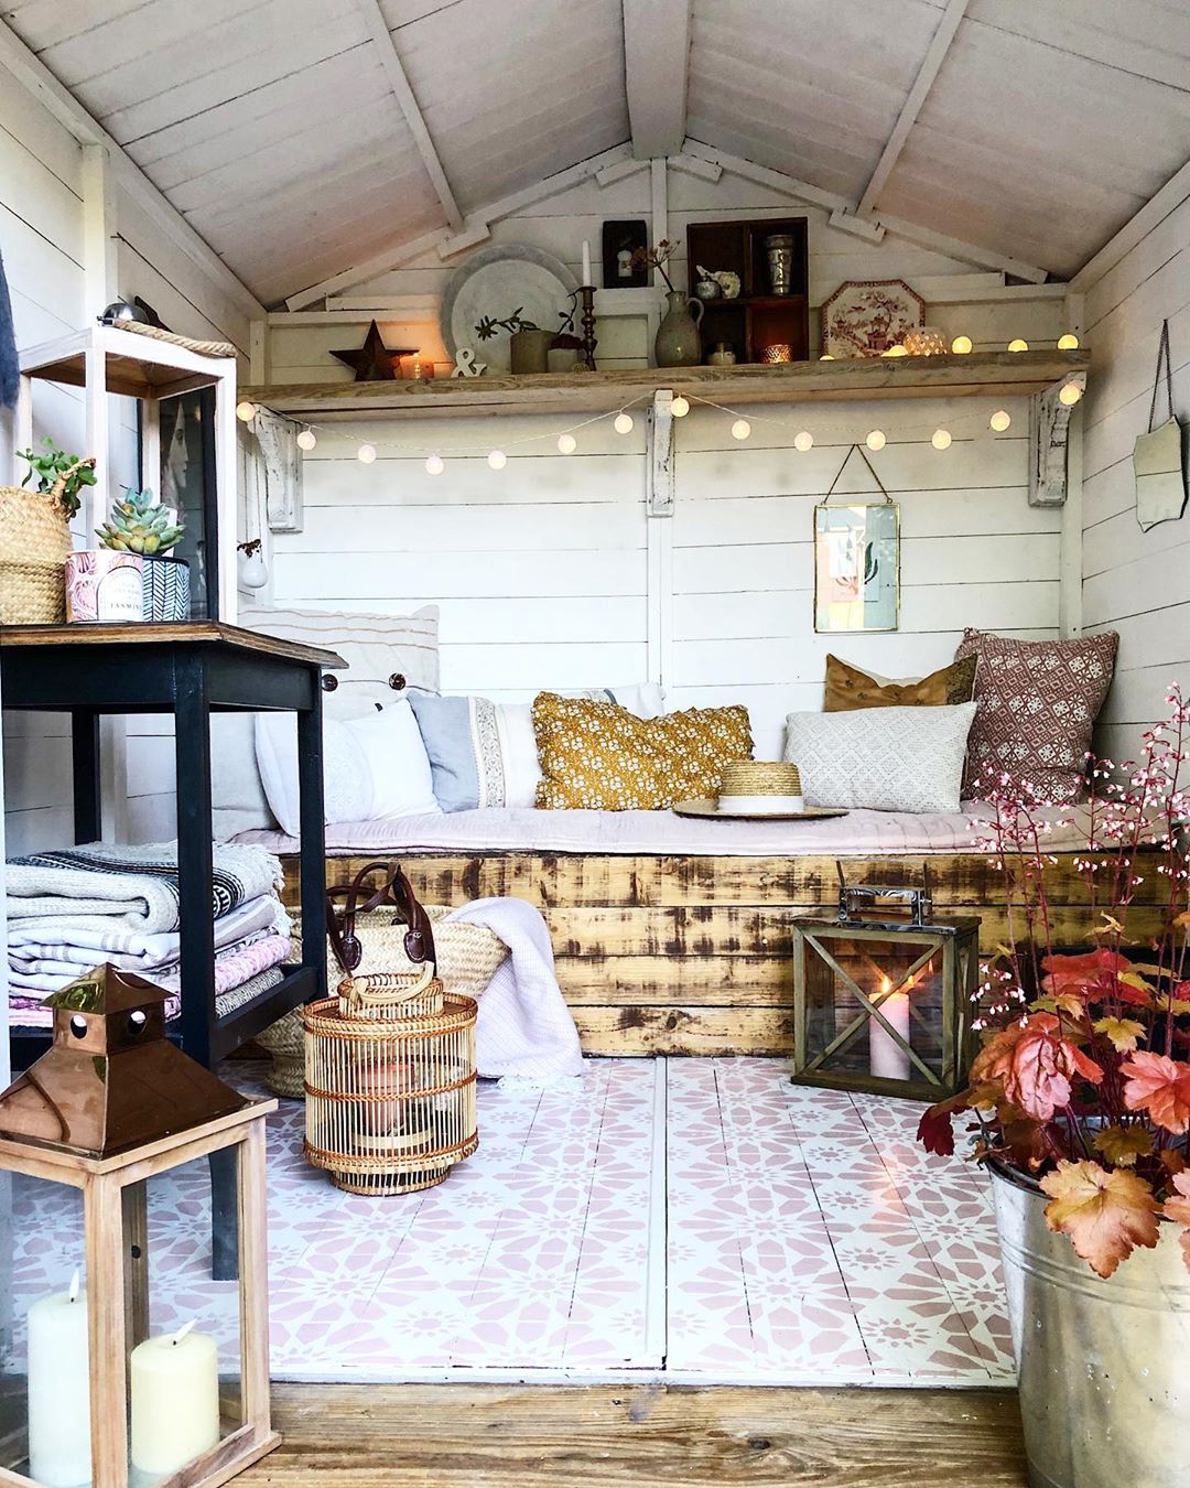
<path fill-rule="evenodd" d="M 492 372 L 512 366 L 509 332 L 497 330 L 480 341 L 476 326 L 485 317 L 507 320 L 513 311 L 541 330 L 556 332 L 559 311 L 570 308 L 570 293 L 579 281 L 552 253 L 527 243 L 500 243 L 480 248 L 461 263 L 442 293 L 442 339 L 454 357 L 472 347 L 477 362 Z"/>

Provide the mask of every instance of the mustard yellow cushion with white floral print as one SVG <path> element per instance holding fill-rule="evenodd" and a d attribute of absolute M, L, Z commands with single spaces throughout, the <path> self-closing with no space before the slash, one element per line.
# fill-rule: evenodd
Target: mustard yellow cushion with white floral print
<path fill-rule="evenodd" d="M 687 708 L 638 719 L 614 702 L 541 692 L 533 731 L 543 811 L 665 811 L 713 796 L 723 766 L 751 759 L 748 710 Z"/>

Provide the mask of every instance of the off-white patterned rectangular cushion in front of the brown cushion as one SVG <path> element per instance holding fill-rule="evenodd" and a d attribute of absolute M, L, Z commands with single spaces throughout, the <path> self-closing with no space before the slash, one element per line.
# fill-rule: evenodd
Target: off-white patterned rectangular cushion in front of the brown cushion
<path fill-rule="evenodd" d="M 785 759 L 809 806 L 958 811 L 974 702 L 790 713 Z"/>

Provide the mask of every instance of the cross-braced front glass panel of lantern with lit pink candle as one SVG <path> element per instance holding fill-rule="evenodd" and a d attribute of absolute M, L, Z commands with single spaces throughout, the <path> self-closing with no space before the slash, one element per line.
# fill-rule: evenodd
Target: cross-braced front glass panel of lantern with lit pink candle
<path fill-rule="evenodd" d="M 925 945 L 815 936 L 846 973 L 840 976 L 814 945 L 806 946 L 806 1064 L 809 1073 L 925 1079 L 898 1034 L 937 1076 L 943 1064 L 942 948 L 910 978 Z M 907 979 L 906 979 L 907 978 Z M 852 985 L 854 984 L 854 985 Z M 894 1030 L 873 1015 L 879 1007 Z"/>

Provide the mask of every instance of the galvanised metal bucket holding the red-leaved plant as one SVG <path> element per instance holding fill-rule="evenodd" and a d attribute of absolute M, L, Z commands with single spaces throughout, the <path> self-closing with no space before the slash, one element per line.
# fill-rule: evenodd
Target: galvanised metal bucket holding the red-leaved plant
<path fill-rule="evenodd" d="M 991 1165 L 1031 1488 L 1186 1488 L 1190 1272 L 1178 1232 L 1107 1281 L 1046 1228 L 1046 1195 Z"/>

